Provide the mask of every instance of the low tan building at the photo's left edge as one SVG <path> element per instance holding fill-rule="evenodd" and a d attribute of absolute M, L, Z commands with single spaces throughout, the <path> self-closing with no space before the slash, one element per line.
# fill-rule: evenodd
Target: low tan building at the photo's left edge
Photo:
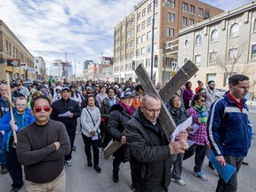
<path fill-rule="evenodd" d="M 0 20 L 0 78 L 9 73 L 12 78 L 34 80 L 34 57 L 3 20 Z"/>

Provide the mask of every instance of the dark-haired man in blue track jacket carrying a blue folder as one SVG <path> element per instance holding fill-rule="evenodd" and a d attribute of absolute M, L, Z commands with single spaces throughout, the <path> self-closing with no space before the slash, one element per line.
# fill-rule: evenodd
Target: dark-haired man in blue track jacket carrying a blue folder
<path fill-rule="evenodd" d="M 251 147 L 250 121 L 245 95 L 249 91 L 247 76 L 234 75 L 228 79 L 229 92 L 215 101 L 207 121 L 207 133 L 216 161 L 236 168 L 228 183 L 220 177 L 216 191 L 236 191 L 237 173 Z"/>

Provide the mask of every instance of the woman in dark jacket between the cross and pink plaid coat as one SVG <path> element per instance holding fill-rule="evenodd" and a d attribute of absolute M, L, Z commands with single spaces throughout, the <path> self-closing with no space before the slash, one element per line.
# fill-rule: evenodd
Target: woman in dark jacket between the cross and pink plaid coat
<path fill-rule="evenodd" d="M 182 107 L 180 97 L 177 94 L 174 94 L 169 100 L 169 105 L 170 108 L 168 108 L 168 110 L 176 125 L 182 124 L 188 119 L 189 114 L 186 109 Z M 177 182 L 180 186 L 186 185 L 185 181 L 181 179 L 183 156 L 184 154 L 182 153 L 177 155 L 172 168 L 172 181 Z"/>

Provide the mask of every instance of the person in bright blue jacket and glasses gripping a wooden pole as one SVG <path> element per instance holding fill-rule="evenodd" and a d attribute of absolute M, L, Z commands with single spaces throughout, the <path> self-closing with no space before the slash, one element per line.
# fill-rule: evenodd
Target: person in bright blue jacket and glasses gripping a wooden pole
<path fill-rule="evenodd" d="M 35 121 L 35 117 L 27 108 L 27 100 L 24 97 L 19 97 L 16 100 L 13 116 L 14 119 L 12 119 L 11 113 L 7 112 L 0 119 L 0 130 L 4 131 L 2 149 L 5 151 L 7 170 L 13 182 L 11 192 L 19 191 L 23 186 L 22 168 L 16 155 L 13 131 L 20 132 L 24 126 Z"/>

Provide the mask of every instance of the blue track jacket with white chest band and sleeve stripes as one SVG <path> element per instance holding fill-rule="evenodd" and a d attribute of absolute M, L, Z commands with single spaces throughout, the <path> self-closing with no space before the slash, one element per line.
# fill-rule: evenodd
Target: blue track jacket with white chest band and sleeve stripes
<path fill-rule="evenodd" d="M 207 134 L 215 156 L 246 156 L 251 147 L 248 107 L 242 100 L 242 112 L 227 94 L 211 106 Z"/>

